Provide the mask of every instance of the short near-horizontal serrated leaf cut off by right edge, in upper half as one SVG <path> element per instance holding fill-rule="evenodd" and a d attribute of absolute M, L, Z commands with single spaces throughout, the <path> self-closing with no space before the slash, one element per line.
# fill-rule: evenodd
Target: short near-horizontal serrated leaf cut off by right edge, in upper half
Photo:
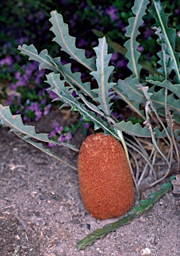
<path fill-rule="evenodd" d="M 173 85 L 169 80 L 166 80 L 164 77 L 159 77 L 158 75 L 149 75 L 149 77 L 146 77 L 146 81 L 148 83 L 151 83 L 152 85 L 157 85 L 160 87 L 164 87 L 169 89 L 172 93 L 177 95 L 177 97 L 180 98 L 180 85 L 176 84 Z"/>

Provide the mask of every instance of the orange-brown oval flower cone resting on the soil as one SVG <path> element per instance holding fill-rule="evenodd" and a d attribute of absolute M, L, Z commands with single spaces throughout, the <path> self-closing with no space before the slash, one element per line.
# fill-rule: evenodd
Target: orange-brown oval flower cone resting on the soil
<path fill-rule="evenodd" d="M 81 197 L 96 219 L 125 214 L 134 200 L 134 188 L 121 144 L 111 135 L 90 135 L 78 157 Z"/>

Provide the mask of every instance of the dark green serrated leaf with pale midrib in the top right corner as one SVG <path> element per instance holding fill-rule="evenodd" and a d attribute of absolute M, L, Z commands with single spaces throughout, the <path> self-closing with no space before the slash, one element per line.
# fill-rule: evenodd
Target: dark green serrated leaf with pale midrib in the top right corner
<path fill-rule="evenodd" d="M 165 52 L 170 56 L 168 67 L 175 71 L 175 79 L 177 83 L 180 83 L 179 53 L 175 52 L 175 29 L 167 27 L 167 19 L 169 17 L 169 13 L 165 13 L 164 9 L 165 3 L 161 3 L 159 0 L 152 0 L 152 5 L 149 8 L 149 11 L 157 21 L 157 25 L 155 26 L 161 27 L 161 33 L 163 34 L 162 43 L 167 45 Z"/>

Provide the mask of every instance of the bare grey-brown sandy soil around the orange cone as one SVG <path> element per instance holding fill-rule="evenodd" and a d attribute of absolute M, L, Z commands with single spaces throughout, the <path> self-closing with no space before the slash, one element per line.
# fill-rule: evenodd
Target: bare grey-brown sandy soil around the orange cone
<path fill-rule="evenodd" d="M 72 120 L 53 111 L 37 123 L 37 131 L 51 131 L 52 121 L 69 125 Z M 79 147 L 83 139 L 79 131 L 71 143 Z M 62 147 L 53 151 L 77 165 L 77 153 Z M 129 225 L 77 251 L 77 243 L 85 235 L 117 220 L 98 221 L 87 213 L 77 172 L 21 141 L 7 128 L 0 128 L 0 167 L 2 256 L 136 256 L 146 247 L 151 255 L 180 255 L 180 197 L 171 192 Z M 159 185 L 144 195 L 157 189 Z"/>

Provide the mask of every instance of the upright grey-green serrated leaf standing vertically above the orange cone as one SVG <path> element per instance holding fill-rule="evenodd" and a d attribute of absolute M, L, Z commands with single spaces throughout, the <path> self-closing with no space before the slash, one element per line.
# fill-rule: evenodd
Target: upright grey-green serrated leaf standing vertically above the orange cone
<path fill-rule="evenodd" d="M 112 99 L 112 91 L 109 91 L 115 85 L 115 83 L 109 83 L 109 77 L 113 72 L 114 67 L 109 66 L 109 61 L 112 54 L 107 53 L 107 43 L 105 37 L 99 39 L 99 45 L 94 48 L 97 55 L 96 66 L 97 71 L 91 72 L 91 75 L 95 77 L 98 89 L 93 89 L 93 92 L 97 93 L 97 97 L 94 99 L 99 102 L 98 108 L 101 109 L 107 117 L 111 115 L 111 105 L 109 103 Z"/>

